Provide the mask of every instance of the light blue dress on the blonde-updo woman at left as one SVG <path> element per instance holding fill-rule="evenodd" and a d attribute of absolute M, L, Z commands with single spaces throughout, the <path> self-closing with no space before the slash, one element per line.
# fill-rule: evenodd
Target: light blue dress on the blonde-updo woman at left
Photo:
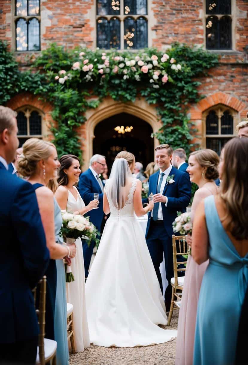
<path fill-rule="evenodd" d="M 56 242 L 62 245 L 63 238 L 59 231 L 62 226 L 62 216 L 59 204 L 54 198 L 54 220 Z M 65 268 L 63 260 L 56 260 L 57 267 L 57 289 L 55 300 L 54 332 L 57 341 L 57 365 L 68 365 L 69 350 L 67 341 L 67 300 L 65 286 Z"/>

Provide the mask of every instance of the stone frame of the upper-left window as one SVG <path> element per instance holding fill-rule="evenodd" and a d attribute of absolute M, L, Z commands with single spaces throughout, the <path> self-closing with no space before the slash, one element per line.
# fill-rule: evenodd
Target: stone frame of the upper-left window
<path fill-rule="evenodd" d="M 16 15 L 16 1 L 11 1 L 11 14 L 12 14 L 12 20 L 11 20 L 11 30 L 12 30 L 12 42 L 11 42 L 11 48 L 16 53 L 22 53 L 22 52 L 40 52 L 41 51 L 41 0 L 40 0 L 40 15 Z M 40 25 L 40 49 L 39 50 L 26 50 L 26 51 L 17 51 L 16 49 L 16 22 L 18 19 L 24 19 L 24 20 L 31 20 L 33 18 L 36 18 Z"/>

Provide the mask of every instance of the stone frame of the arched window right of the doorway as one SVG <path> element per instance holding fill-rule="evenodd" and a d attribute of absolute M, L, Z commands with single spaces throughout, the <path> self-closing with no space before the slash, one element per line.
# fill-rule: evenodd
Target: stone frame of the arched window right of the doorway
<path fill-rule="evenodd" d="M 206 119 L 207 115 L 210 111 L 214 110 L 218 116 L 219 119 L 219 133 L 218 134 L 206 134 Z M 221 116 L 224 114 L 225 111 L 228 111 L 230 115 L 233 117 L 233 134 L 221 134 L 221 123 L 220 119 Z M 207 138 L 217 138 L 217 139 L 225 139 L 225 138 L 232 138 L 235 137 L 237 134 L 235 132 L 235 128 L 237 124 L 239 123 L 239 113 L 235 110 L 233 110 L 230 107 L 227 107 L 224 104 L 217 104 L 214 107 L 211 107 L 207 110 L 205 110 L 202 114 L 202 143 L 201 148 L 206 148 L 207 145 Z"/>

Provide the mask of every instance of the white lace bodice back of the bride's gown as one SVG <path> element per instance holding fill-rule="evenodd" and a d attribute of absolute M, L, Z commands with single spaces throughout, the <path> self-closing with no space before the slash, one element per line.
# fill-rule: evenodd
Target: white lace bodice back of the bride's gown
<path fill-rule="evenodd" d="M 137 186 L 137 179 L 134 178 L 132 181 L 131 188 L 128 193 L 127 200 L 125 201 L 124 207 L 121 209 L 117 209 L 113 205 L 112 200 L 109 196 L 109 191 L 108 191 L 109 185 L 108 185 L 108 181 L 106 182 L 105 193 L 106 193 L 106 196 L 108 199 L 111 217 L 121 218 L 121 217 L 127 217 L 127 216 L 134 216 L 133 194 L 135 192 L 136 186 Z"/>

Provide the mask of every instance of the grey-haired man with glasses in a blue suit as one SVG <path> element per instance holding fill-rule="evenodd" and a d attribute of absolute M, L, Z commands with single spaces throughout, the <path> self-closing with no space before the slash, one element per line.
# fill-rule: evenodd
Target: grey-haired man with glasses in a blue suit
<path fill-rule="evenodd" d="M 94 193 L 99 194 L 98 209 L 92 209 L 86 214 L 89 216 L 89 220 L 95 224 L 97 230 L 99 231 L 101 231 L 101 226 L 104 219 L 104 183 L 100 179 L 99 174 L 104 172 L 105 166 L 107 166 L 105 156 L 99 154 L 93 155 L 89 161 L 88 170 L 83 172 L 79 179 L 79 192 L 85 205 L 88 205 L 89 202 L 94 199 Z M 94 245 L 95 243 L 93 241 L 90 243 L 90 246 L 88 246 L 87 242 L 83 241 L 85 278 L 88 276 L 89 264 L 91 262 Z"/>

